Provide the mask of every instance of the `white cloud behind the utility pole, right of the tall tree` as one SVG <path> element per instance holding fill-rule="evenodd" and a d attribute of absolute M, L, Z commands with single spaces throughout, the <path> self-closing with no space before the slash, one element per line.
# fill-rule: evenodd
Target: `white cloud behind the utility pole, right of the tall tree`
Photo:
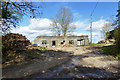
<path fill-rule="evenodd" d="M 103 36 L 101 33 L 102 27 L 104 26 L 105 23 L 109 23 L 109 21 L 106 21 L 104 19 L 100 19 L 98 21 L 95 21 L 92 23 L 92 39 L 94 43 L 97 43 L 100 40 L 103 40 Z M 79 26 L 83 26 L 81 28 L 83 28 L 82 30 L 85 30 L 87 32 L 89 32 L 89 39 L 90 39 L 90 23 L 85 24 L 83 22 L 78 23 L 77 25 Z"/>

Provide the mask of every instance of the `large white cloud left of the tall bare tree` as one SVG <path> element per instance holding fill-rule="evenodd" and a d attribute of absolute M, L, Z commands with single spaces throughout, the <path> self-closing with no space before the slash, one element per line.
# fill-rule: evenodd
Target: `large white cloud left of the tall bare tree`
<path fill-rule="evenodd" d="M 28 26 L 20 26 L 11 30 L 12 33 L 20 33 L 25 35 L 30 41 L 33 41 L 38 35 L 51 35 L 52 32 L 49 29 L 51 20 L 47 18 L 43 19 L 31 19 Z"/>

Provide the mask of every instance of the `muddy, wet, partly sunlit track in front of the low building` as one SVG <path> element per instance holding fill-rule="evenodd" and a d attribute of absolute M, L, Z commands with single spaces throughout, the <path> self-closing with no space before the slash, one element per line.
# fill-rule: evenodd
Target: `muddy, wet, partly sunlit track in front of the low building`
<path fill-rule="evenodd" d="M 119 76 L 118 60 L 104 55 L 99 47 L 59 47 L 48 48 L 48 51 L 57 56 L 46 56 L 44 61 L 39 59 L 30 65 L 4 68 L 3 77 L 111 78 Z"/>

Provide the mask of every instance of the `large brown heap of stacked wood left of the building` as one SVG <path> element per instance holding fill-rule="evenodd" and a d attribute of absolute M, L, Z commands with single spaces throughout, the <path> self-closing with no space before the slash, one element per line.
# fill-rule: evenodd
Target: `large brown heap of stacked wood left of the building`
<path fill-rule="evenodd" d="M 2 36 L 2 45 L 3 51 L 19 51 L 26 49 L 26 46 L 30 45 L 30 41 L 22 34 L 10 33 Z"/>

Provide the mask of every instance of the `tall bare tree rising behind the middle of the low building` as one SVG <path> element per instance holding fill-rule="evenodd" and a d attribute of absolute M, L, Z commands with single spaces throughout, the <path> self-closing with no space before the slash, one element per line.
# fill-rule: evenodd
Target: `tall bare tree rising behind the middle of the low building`
<path fill-rule="evenodd" d="M 69 8 L 61 8 L 56 17 L 52 20 L 52 30 L 56 30 L 58 36 L 67 36 L 67 33 L 75 30 L 75 25 L 72 24 L 73 15 Z"/>

